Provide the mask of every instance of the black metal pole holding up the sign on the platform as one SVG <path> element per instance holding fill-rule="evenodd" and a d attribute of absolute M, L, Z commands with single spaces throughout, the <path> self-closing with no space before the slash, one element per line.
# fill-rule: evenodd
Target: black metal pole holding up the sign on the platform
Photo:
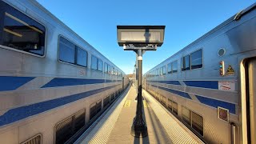
<path fill-rule="evenodd" d="M 142 50 L 137 51 L 138 54 L 138 96 L 137 111 L 134 118 L 131 134 L 134 137 L 146 137 L 147 127 L 142 114 Z"/>

